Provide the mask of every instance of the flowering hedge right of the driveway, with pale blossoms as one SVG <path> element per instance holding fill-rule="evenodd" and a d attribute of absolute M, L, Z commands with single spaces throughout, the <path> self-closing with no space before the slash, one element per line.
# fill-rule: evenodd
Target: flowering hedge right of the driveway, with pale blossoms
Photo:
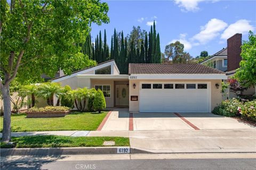
<path fill-rule="evenodd" d="M 212 111 L 215 115 L 242 117 L 256 122 L 256 100 L 231 99 L 222 101 L 220 106 Z"/>

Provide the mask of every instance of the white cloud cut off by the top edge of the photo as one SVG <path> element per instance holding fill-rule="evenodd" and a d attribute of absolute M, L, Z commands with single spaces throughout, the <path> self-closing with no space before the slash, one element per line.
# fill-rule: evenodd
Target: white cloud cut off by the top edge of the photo
<path fill-rule="evenodd" d="M 199 10 L 198 3 L 203 0 L 174 0 L 175 4 L 181 7 L 181 11 L 187 12 L 196 12 Z"/>

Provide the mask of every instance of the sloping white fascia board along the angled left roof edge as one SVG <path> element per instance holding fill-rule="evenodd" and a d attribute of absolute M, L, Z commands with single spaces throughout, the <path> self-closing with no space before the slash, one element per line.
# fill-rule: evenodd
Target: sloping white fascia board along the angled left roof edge
<path fill-rule="evenodd" d="M 75 73 L 73 73 L 69 76 L 63 76 L 63 77 L 54 79 L 54 80 L 52 80 L 52 82 L 61 82 L 62 80 L 65 80 L 65 79 L 68 79 L 68 78 L 71 78 L 71 77 L 75 77 L 77 75 L 81 75 L 81 74 L 84 74 L 86 72 L 90 72 L 90 71 L 93 71 L 93 70 L 97 70 L 97 69 L 101 69 L 101 68 L 104 68 L 104 67 L 107 67 L 107 66 L 111 66 L 113 64 L 115 64 L 115 61 L 109 61 L 109 62 L 106 62 L 104 64 L 100 64 L 99 66 L 95 66 L 95 67 L 92 67 L 92 68 L 89 68 L 89 69 L 77 71 L 77 72 L 75 72 Z"/>

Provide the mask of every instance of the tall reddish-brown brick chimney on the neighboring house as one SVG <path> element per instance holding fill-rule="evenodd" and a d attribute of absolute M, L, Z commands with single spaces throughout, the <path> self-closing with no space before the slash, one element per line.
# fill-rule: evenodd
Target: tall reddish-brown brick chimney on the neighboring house
<path fill-rule="evenodd" d="M 242 45 L 242 34 L 235 34 L 227 39 L 228 44 L 228 70 L 232 71 L 239 68 L 239 62 L 242 60 L 241 45 Z"/>

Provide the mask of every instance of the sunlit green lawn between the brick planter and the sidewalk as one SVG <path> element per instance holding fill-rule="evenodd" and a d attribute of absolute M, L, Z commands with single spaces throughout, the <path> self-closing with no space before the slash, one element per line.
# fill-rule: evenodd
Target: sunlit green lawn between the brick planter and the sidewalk
<path fill-rule="evenodd" d="M 107 111 L 101 114 L 93 112 L 73 112 L 65 117 L 56 118 L 26 118 L 26 114 L 11 117 L 12 132 L 32 131 L 95 131 Z M 0 118 L 0 131 L 3 129 L 3 117 Z"/>

